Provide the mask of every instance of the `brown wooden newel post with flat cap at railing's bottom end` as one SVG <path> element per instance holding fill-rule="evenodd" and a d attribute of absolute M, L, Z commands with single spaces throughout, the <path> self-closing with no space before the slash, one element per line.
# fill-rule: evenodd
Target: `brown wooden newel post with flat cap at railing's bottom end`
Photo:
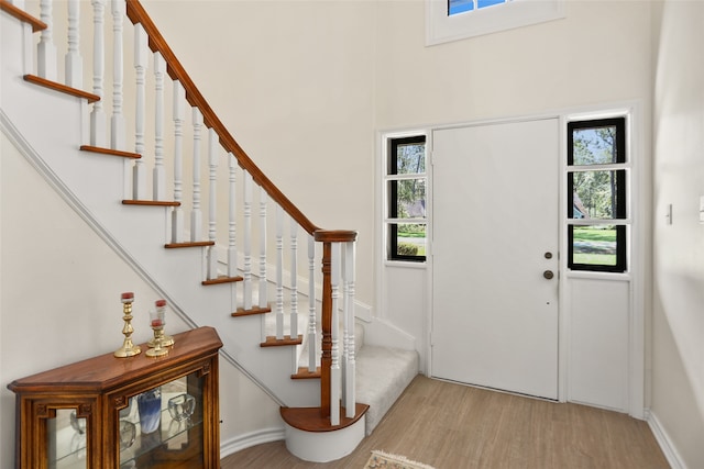
<path fill-rule="evenodd" d="M 322 243 L 322 356 L 320 358 L 320 414 L 330 416 L 332 402 L 331 395 L 331 368 L 332 368 L 332 243 L 349 243 L 356 239 L 353 231 L 323 231 L 315 232 L 316 242 Z M 337 399 L 336 399 L 337 402 Z"/>

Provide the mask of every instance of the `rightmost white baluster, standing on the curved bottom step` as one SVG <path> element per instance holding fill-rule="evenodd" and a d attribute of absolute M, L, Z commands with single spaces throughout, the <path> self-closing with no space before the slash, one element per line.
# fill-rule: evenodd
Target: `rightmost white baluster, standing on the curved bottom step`
<path fill-rule="evenodd" d="M 354 394 L 356 362 L 354 354 L 354 277 L 355 277 L 355 244 L 344 245 L 344 407 L 348 418 L 354 417 L 356 412 Z"/>

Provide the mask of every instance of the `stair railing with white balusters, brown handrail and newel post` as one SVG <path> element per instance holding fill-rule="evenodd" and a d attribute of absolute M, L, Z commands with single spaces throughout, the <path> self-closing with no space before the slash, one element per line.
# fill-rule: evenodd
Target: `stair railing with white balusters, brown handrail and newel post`
<path fill-rule="evenodd" d="M 123 203 L 170 208 L 165 247 L 200 247 L 204 284 L 240 281 L 238 311 L 233 315 L 268 311 L 267 284 L 275 286 L 275 334 L 267 334 L 262 320 L 263 343 L 295 342 L 304 336 L 304 331 L 298 331 L 298 309 L 301 298 L 307 298 L 305 335 L 309 354 L 305 357 L 305 368 L 308 373 L 316 372 L 318 358 L 314 344 L 319 340 L 321 414 L 330 417 L 331 425 L 339 424 L 342 401 L 345 416 L 354 417 L 356 233 L 318 227 L 264 175 L 220 121 L 138 0 L 91 0 L 90 5 L 79 0 L 57 2 L 66 4 L 66 11 L 56 11 L 52 0 L 40 0 L 41 20 L 29 11 L 30 3 L 0 0 L 3 11 L 28 24 L 26 36 L 41 31 L 38 41 L 33 42 L 33 51 L 25 52 L 25 56 L 36 57 L 38 78 L 33 76 L 30 65 L 25 65 L 25 79 L 68 90 L 92 102 L 89 145 L 81 149 L 124 157 Z M 87 16 L 84 21 L 81 13 Z M 125 15 L 129 22 L 124 21 Z M 128 24 L 133 25 L 132 35 L 127 31 Z M 92 35 L 86 33 L 90 26 Z M 106 34 L 109 27 L 112 35 Z M 82 54 L 81 45 L 86 45 Z M 129 64 L 124 51 L 130 45 L 134 51 L 129 57 L 133 69 L 124 66 Z M 59 49 L 65 49 L 63 80 L 58 78 L 62 75 Z M 85 63 L 86 56 L 91 60 Z M 31 58 L 26 60 L 30 64 Z M 111 74 L 106 74 L 106 64 Z M 213 68 L 216 66 L 213 64 Z M 88 74 L 91 80 L 85 79 Z M 112 77 L 111 100 L 106 99 L 106 75 Z M 165 79 L 166 75 L 170 81 Z M 87 81 L 92 83 L 91 92 L 78 91 Z M 166 98 L 169 94 L 170 100 Z M 164 121 L 169 111 L 172 136 L 167 137 Z M 147 118 L 152 120 L 151 125 Z M 133 125 L 133 134 L 127 131 L 129 124 Z M 189 161 L 187 153 L 190 153 Z M 167 154 L 173 157 L 168 158 Z M 223 155 L 226 164 L 220 164 Z M 147 177 L 150 167 L 151 178 Z M 173 175 L 170 180 L 167 172 Z M 188 177 L 190 183 L 185 181 Z M 267 216 L 270 200 L 275 205 L 273 220 Z M 219 210 L 219 203 L 227 209 Z M 207 220 L 204 220 L 204 205 Z M 189 230 L 185 228 L 187 211 L 190 212 Z M 300 230 L 308 236 L 305 254 L 298 249 Z M 274 239 L 268 235 L 272 231 Z M 287 242 L 284 241 L 286 231 Z M 274 256 L 268 253 L 270 244 L 274 246 Z M 308 264 L 308 269 L 298 268 L 304 264 Z M 271 273 L 272 269 L 275 273 Z M 299 270 L 307 270 L 307 278 L 299 278 Z M 288 308 L 285 308 L 285 291 Z M 320 337 L 317 298 L 320 298 Z M 292 373 L 297 373 L 300 371 L 297 357 L 293 361 Z"/>

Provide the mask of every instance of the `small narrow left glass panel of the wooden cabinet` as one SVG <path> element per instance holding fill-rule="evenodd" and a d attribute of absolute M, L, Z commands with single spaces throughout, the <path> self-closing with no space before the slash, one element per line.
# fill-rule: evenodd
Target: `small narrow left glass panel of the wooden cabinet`
<path fill-rule="evenodd" d="M 47 418 L 46 447 L 50 469 L 87 469 L 86 417 L 75 409 L 57 409 Z"/>

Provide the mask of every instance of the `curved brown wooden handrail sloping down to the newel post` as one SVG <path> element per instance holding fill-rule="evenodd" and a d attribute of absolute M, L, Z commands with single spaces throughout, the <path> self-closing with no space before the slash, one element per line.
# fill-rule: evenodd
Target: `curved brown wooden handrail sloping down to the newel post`
<path fill-rule="evenodd" d="M 266 193 L 268 193 L 270 197 L 282 206 L 282 209 L 296 220 L 296 222 L 306 232 L 308 232 L 308 234 L 312 235 L 317 230 L 319 230 L 318 226 L 308 220 L 308 217 L 304 215 L 304 213 L 298 210 L 298 208 L 286 196 L 284 196 L 274 182 L 272 182 L 271 179 L 262 172 L 244 149 L 242 149 L 242 147 L 237 143 L 234 137 L 228 132 L 218 115 L 213 112 L 212 108 L 210 108 L 210 104 L 208 104 L 208 101 L 190 79 L 190 76 L 186 72 L 184 66 L 180 64 L 178 58 L 176 58 L 176 55 L 168 46 L 164 36 L 139 0 L 127 0 L 127 14 L 133 24 L 140 23 L 142 27 L 144 27 L 144 31 L 148 36 L 150 48 L 153 52 L 162 54 L 166 62 L 168 76 L 173 80 L 178 80 L 183 85 L 186 90 L 186 100 L 190 105 L 200 110 L 206 126 L 216 131 L 222 147 L 235 156 L 239 165 L 252 175 L 254 181 L 264 188 Z"/>

